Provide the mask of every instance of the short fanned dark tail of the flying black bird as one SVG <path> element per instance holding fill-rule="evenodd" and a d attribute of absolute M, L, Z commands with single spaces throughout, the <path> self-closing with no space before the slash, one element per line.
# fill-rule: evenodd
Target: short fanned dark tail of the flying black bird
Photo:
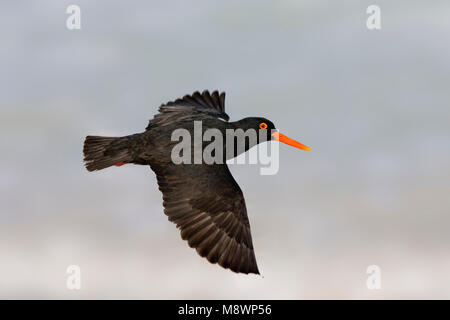
<path fill-rule="evenodd" d="M 87 136 L 84 140 L 84 165 L 88 171 L 132 162 L 129 137 Z"/>

